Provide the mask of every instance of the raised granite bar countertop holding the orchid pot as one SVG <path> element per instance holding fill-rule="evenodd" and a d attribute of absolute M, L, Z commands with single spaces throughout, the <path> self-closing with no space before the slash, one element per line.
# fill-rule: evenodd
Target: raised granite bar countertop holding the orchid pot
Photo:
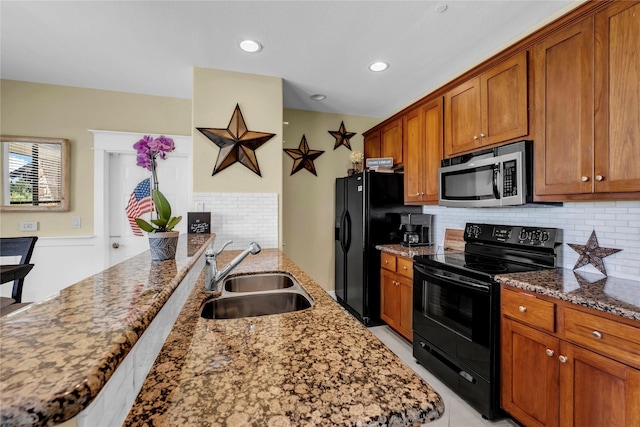
<path fill-rule="evenodd" d="M 0 424 L 53 425 L 95 398 L 213 234 L 181 235 L 175 260 L 149 251 L 0 318 Z"/>

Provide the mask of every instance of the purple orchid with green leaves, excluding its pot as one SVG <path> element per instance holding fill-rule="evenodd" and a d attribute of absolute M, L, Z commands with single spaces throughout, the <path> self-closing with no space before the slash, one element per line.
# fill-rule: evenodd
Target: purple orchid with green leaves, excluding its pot
<path fill-rule="evenodd" d="M 145 135 L 142 139 L 133 144 L 133 148 L 135 148 L 138 153 L 136 164 L 151 171 L 151 179 L 153 181 L 151 198 L 153 199 L 156 214 L 158 216 L 156 219 L 151 219 L 151 223 L 142 218 L 136 218 L 136 224 L 138 224 L 138 227 L 140 227 L 141 230 L 148 233 L 172 231 L 180 222 L 182 217 L 171 216 L 171 205 L 159 190 L 157 174 L 158 164 L 156 159 L 158 157 L 166 159 L 167 153 L 175 150 L 176 147 L 173 143 L 173 139 L 164 135 L 157 138 L 153 138 L 151 135 Z"/>

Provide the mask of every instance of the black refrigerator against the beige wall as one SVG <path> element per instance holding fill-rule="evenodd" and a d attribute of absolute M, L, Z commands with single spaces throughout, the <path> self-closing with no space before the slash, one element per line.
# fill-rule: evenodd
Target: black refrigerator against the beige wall
<path fill-rule="evenodd" d="M 379 244 L 400 243 L 404 175 L 365 171 L 336 179 L 335 291 L 340 304 L 366 326 L 380 319 Z"/>

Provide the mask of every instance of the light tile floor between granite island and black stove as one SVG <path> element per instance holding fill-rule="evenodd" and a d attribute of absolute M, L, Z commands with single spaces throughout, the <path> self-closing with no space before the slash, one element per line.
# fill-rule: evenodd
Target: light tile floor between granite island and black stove
<path fill-rule="evenodd" d="M 419 365 L 413 358 L 413 349 L 411 344 L 404 338 L 394 332 L 388 326 L 375 326 L 369 330 L 391 349 L 404 363 L 413 369 L 416 374 L 428 382 L 444 399 L 445 412 L 444 415 L 430 423 L 426 424 L 433 427 L 517 427 L 513 420 L 505 418 L 500 420 L 488 421 L 482 418 L 479 412 L 473 409 L 464 400 L 459 398 L 447 386 L 442 384 L 436 377 L 427 371 L 422 365 Z"/>

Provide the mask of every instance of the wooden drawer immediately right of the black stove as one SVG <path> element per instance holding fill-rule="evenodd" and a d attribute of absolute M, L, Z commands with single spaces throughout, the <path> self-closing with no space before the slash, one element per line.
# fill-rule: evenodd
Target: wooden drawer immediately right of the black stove
<path fill-rule="evenodd" d="M 502 315 L 534 328 L 555 332 L 555 307 L 529 293 L 502 290 Z"/>

